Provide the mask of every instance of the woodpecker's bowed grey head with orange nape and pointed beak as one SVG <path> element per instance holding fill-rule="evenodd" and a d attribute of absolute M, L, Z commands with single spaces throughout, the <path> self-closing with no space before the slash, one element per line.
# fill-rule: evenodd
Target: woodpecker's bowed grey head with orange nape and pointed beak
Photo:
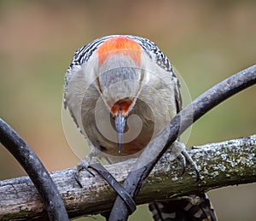
<path fill-rule="evenodd" d="M 141 68 L 143 49 L 131 38 L 113 36 L 103 42 L 96 53 L 96 84 L 113 117 L 121 154 L 126 119 L 137 101 L 145 79 Z"/>

